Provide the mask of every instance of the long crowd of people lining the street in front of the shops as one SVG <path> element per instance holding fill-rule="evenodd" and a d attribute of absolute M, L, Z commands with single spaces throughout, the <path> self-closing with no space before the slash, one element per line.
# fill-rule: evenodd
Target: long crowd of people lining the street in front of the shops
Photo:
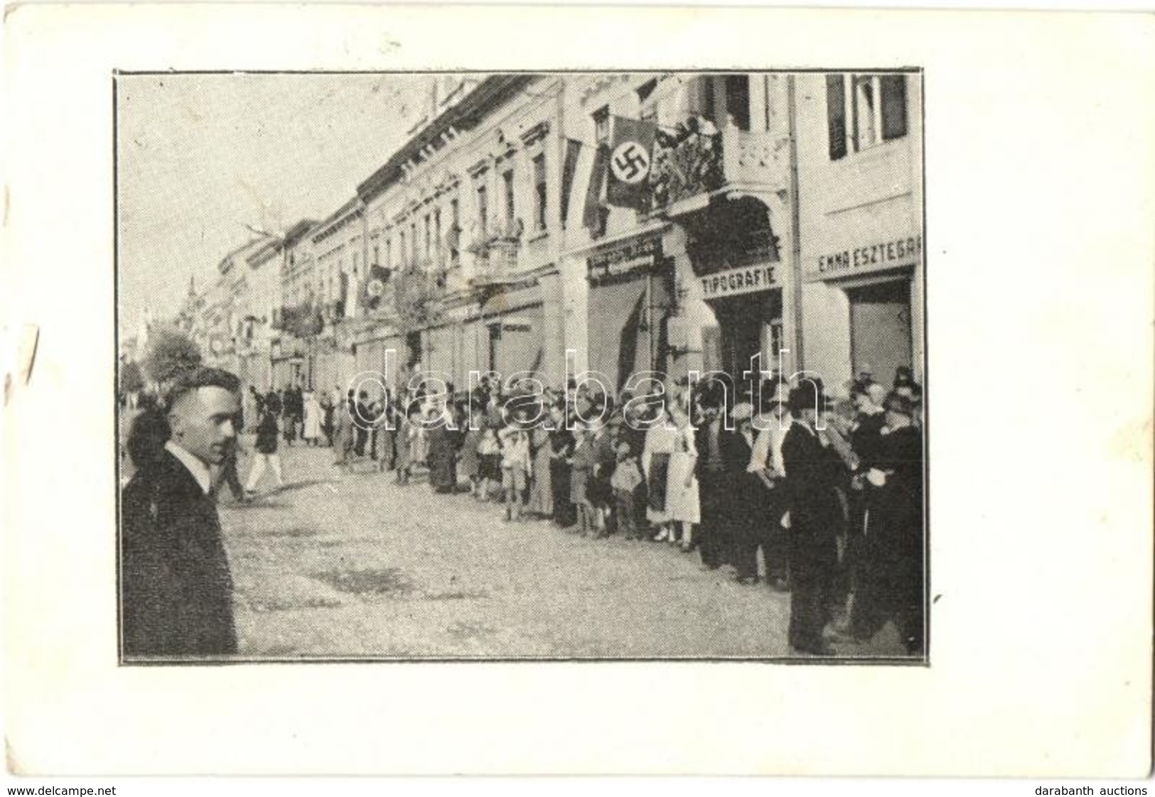
<path fill-rule="evenodd" d="M 303 424 L 338 470 L 370 463 L 398 485 L 498 504 L 507 522 L 677 545 L 742 584 L 765 579 L 791 595 L 798 651 L 830 655 L 832 641 L 866 643 L 893 621 L 921 655 L 922 388 L 909 368 L 891 385 L 864 371 L 847 388 L 835 402 L 820 379 L 743 386 L 715 374 L 617 396 L 497 381 L 468 395 L 254 390 L 245 497 L 267 465 L 281 483 L 277 430 L 291 445 Z"/>

